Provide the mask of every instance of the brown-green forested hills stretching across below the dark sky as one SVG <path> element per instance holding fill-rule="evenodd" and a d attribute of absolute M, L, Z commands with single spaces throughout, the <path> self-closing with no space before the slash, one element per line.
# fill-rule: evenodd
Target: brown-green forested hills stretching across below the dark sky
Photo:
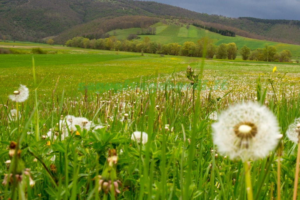
<path fill-rule="evenodd" d="M 132 17 L 137 15 L 145 17 Z M 138 25 L 134 18 L 140 19 L 141 23 Z M 244 37 L 300 44 L 300 21 L 228 18 L 133 0 L 0 0 L 0 39 L 39 41 L 60 35 L 58 41 L 63 43 L 73 36 L 86 34 L 104 37 L 112 28 L 125 28 L 110 24 L 118 22 L 122 25 L 120 20 L 127 20 L 127 25 L 134 27 L 145 26 L 145 23 L 151 25 L 162 18 L 179 18 L 190 24 L 196 21 Z M 69 38 L 68 34 L 71 34 Z"/>

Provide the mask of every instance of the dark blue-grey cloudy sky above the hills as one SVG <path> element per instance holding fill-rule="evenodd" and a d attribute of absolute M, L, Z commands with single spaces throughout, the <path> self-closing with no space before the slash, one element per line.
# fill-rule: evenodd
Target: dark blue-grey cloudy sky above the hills
<path fill-rule="evenodd" d="M 152 0 L 226 17 L 300 20 L 300 0 Z"/>

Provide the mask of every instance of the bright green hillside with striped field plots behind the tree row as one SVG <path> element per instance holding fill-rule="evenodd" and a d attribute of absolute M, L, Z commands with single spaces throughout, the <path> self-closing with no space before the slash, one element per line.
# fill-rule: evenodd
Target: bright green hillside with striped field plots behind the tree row
<path fill-rule="evenodd" d="M 294 44 L 284 44 L 266 40 L 257 40 L 252 38 L 246 38 L 241 36 L 229 37 L 220 35 L 214 32 L 207 31 L 205 29 L 199 29 L 196 26 L 190 25 L 189 29 L 186 28 L 186 25 L 178 26 L 176 24 L 163 24 L 156 23 L 152 27 L 156 28 L 155 35 L 138 35 L 140 39 L 143 40 L 145 37 L 149 37 L 150 41 L 155 41 L 161 44 L 168 43 L 178 43 L 183 45 L 186 41 L 192 41 L 194 43 L 197 42 L 202 37 L 208 37 L 213 40 L 215 45 L 220 45 L 222 43 L 231 43 L 234 42 L 238 49 L 246 45 L 251 50 L 255 50 L 257 48 L 265 47 L 265 44 L 269 46 L 274 46 L 278 51 L 282 51 L 284 49 L 290 50 L 294 59 L 299 59 L 300 57 L 300 46 Z M 141 32 L 140 28 L 131 28 L 131 29 L 116 29 L 107 32 L 109 35 L 116 36 L 117 39 L 122 40 L 126 39 L 129 34 L 136 34 Z"/>

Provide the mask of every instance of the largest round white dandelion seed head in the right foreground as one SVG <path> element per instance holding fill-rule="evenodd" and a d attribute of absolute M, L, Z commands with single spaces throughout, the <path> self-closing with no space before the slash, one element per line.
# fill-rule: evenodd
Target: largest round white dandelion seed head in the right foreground
<path fill-rule="evenodd" d="M 254 102 L 229 107 L 212 128 L 218 151 L 243 161 L 267 156 L 282 137 L 274 114 Z"/>

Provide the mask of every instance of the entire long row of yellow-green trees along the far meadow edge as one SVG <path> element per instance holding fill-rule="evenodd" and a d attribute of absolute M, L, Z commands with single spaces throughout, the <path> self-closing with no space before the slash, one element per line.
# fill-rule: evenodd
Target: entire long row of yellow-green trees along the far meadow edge
<path fill-rule="evenodd" d="M 202 57 L 203 51 L 205 50 L 206 58 L 213 58 L 214 55 L 216 55 L 215 57 L 217 59 L 231 60 L 234 60 L 238 54 L 238 47 L 234 42 L 228 44 L 222 43 L 219 46 L 216 46 L 209 38 L 201 38 L 196 43 L 186 41 L 183 45 L 179 45 L 178 43 L 160 44 L 150 41 L 149 37 L 145 37 L 142 41 L 134 39 L 123 39 L 122 41 L 119 41 L 116 36 L 91 40 L 84 37 L 74 37 L 66 42 L 66 46 L 191 57 Z M 291 57 L 291 52 L 289 50 L 283 50 L 282 52 L 277 53 L 275 47 L 268 45 L 263 49 L 258 48 L 253 51 L 251 51 L 249 47 L 244 46 L 239 53 L 243 60 L 249 59 L 269 62 L 278 60 L 279 62 L 288 62 Z"/>

